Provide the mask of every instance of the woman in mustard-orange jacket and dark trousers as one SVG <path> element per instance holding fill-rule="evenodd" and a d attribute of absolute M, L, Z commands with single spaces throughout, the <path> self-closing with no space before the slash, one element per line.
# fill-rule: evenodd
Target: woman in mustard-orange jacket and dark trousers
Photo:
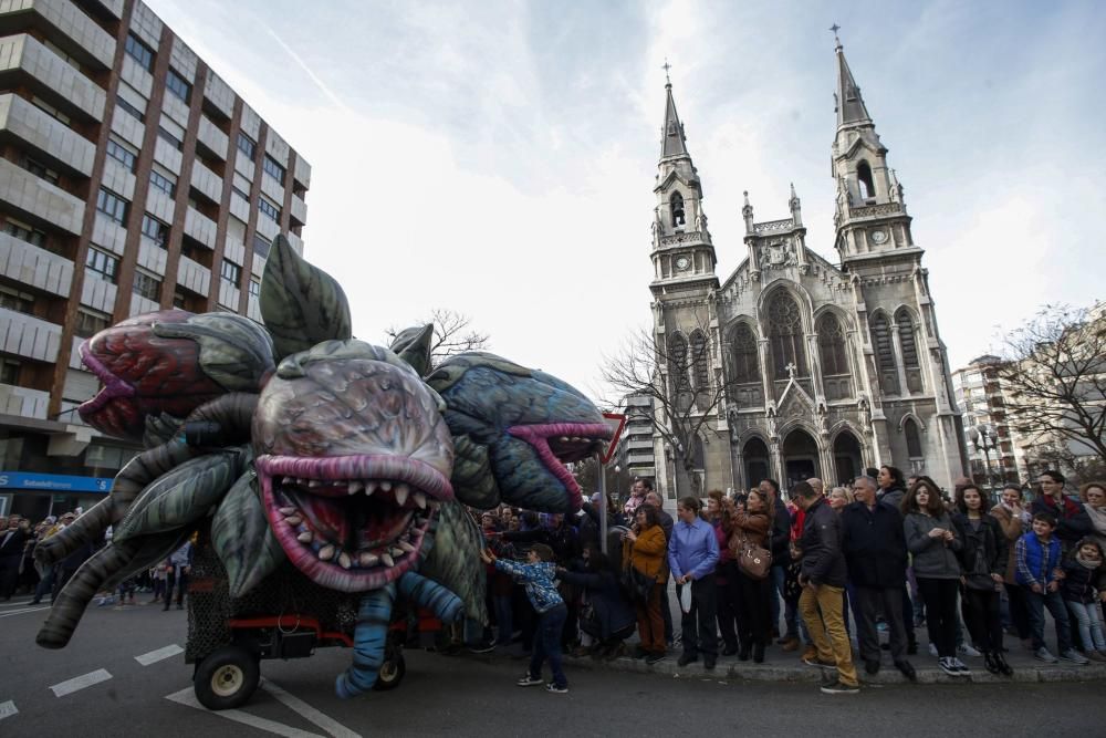
<path fill-rule="evenodd" d="M 623 537 L 623 562 L 632 581 L 643 576 L 653 579 L 648 596 L 634 600 L 637 631 L 641 638 L 637 655 L 644 655 L 645 663 L 650 665 L 665 657 L 665 617 L 660 612 L 660 599 L 666 596 L 665 585 L 668 582 L 667 553 L 668 543 L 657 508 L 639 506 L 634 527 Z"/>

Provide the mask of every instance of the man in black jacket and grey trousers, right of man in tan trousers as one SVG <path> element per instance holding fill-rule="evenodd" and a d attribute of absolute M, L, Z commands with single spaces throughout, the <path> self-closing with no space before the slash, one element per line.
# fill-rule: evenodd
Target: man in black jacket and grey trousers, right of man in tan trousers
<path fill-rule="evenodd" d="M 868 674 L 879 672 L 876 615 L 881 609 L 890 628 L 891 658 L 912 682 L 916 675 L 906 659 L 907 635 L 902 621 L 907 564 L 902 516 L 894 507 L 876 501 L 876 480 L 872 477 L 857 477 L 853 492 L 856 501 L 841 513 L 842 549 L 860 614 L 856 631 L 864 668 Z"/>

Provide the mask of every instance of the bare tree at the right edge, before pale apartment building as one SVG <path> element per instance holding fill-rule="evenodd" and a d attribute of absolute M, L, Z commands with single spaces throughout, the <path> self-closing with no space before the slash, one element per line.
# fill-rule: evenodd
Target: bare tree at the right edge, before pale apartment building
<path fill-rule="evenodd" d="M 1106 461 L 1106 315 L 1045 305 L 1003 340 L 1006 418 L 1035 445 Z M 1079 453 L 1086 449 L 1086 453 Z"/>

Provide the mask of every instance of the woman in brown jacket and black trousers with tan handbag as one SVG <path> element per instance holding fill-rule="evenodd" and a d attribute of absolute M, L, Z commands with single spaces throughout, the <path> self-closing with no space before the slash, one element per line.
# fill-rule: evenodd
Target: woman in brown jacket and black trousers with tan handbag
<path fill-rule="evenodd" d="M 738 658 L 743 662 L 749 661 L 751 652 L 753 662 L 764 663 L 764 646 L 771 633 L 769 621 L 774 592 L 768 575 L 772 565 L 768 542 L 774 512 L 772 498 L 752 490 L 745 505 L 739 506 L 733 513 L 730 550 L 738 561 L 738 640 L 741 644 Z"/>

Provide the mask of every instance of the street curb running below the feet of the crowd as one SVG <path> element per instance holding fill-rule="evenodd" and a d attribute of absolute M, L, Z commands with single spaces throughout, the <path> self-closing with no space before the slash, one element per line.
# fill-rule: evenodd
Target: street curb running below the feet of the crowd
<path fill-rule="evenodd" d="M 781 666 L 779 664 L 750 664 L 743 662 L 719 661 L 718 666 L 712 671 L 702 667 L 701 662 L 679 666 L 676 657 L 670 656 L 662 662 L 649 666 L 643 661 L 628 657 L 616 658 L 615 661 L 595 661 L 588 657 L 565 656 L 565 662 L 575 667 L 586 669 L 611 669 L 615 672 L 630 672 L 636 674 L 662 674 L 676 678 L 712 678 L 712 679 L 738 679 L 742 682 L 783 682 L 792 684 L 817 684 L 822 680 L 821 668 L 813 666 Z M 972 668 L 971 676 L 956 677 L 949 676 L 945 672 L 935 667 L 920 667 L 912 662 L 918 673 L 918 684 L 1010 684 L 1040 683 L 1040 682 L 1091 682 L 1106 679 L 1106 664 L 1091 664 L 1087 666 L 1022 666 L 1014 667 L 1014 674 L 1009 677 L 995 676 L 982 668 Z M 969 665 L 971 666 L 971 665 Z M 884 665 L 876 675 L 865 674 L 863 666 L 857 669 L 862 685 L 908 685 L 910 682 L 899 674 L 894 666 Z"/>

